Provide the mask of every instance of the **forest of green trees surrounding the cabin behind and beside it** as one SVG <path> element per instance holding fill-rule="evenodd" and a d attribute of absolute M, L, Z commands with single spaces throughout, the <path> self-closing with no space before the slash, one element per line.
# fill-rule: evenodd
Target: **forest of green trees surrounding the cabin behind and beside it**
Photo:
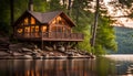
<path fill-rule="evenodd" d="M 28 2 L 29 0 L 0 0 L 0 34 L 11 36 L 12 24 L 28 10 Z M 132 0 L 109 2 L 111 7 L 115 8 L 113 9 L 114 13 L 117 10 L 126 12 L 120 17 L 112 17 L 103 0 L 33 0 L 33 11 L 61 10 L 65 12 L 76 24 L 73 30 L 85 35 L 84 41 L 79 43 L 78 47 L 93 54 L 105 54 L 106 51 L 117 51 L 117 42 L 115 41 L 117 29 L 114 29 L 112 24 L 117 22 L 114 18 L 132 19 Z M 13 14 L 11 14 L 11 10 L 13 10 Z M 93 46 L 91 45 L 92 40 Z"/>

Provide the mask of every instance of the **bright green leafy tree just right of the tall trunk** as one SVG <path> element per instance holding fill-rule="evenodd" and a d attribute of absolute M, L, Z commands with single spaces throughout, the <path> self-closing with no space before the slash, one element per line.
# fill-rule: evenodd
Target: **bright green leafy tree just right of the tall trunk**
<path fill-rule="evenodd" d="M 117 51 L 115 42 L 115 32 L 111 26 L 111 20 L 105 17 L 100 17 L 96 41 L 95 41 L 95 54 L 105 54 L 108 50 Z"/>

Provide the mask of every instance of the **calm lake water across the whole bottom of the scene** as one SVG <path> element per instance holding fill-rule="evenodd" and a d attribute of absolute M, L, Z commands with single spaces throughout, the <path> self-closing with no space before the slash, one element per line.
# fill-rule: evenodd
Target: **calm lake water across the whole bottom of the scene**
<path fill-rule="evenodd" d="M 132 58 L 127 59 L 127 56 L 126 59 L 122 59 L 124 56 L 117 56 L 121 58 L 106 57 L 96 59 L 0 59 L 0 76 L 132 76 Z"/>

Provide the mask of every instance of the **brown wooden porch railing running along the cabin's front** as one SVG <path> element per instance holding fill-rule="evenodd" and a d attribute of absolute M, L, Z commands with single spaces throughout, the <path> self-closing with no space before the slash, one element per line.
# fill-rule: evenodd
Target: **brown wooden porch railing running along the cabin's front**
<path fill-rule="evenodd" d="M 45 33 L 23 33 L 17 34 L 18 37 L 42 37 L 43 40 L 83 40 L 81 33 L 62 33 L 62 32 L 45 32 Z"/>

